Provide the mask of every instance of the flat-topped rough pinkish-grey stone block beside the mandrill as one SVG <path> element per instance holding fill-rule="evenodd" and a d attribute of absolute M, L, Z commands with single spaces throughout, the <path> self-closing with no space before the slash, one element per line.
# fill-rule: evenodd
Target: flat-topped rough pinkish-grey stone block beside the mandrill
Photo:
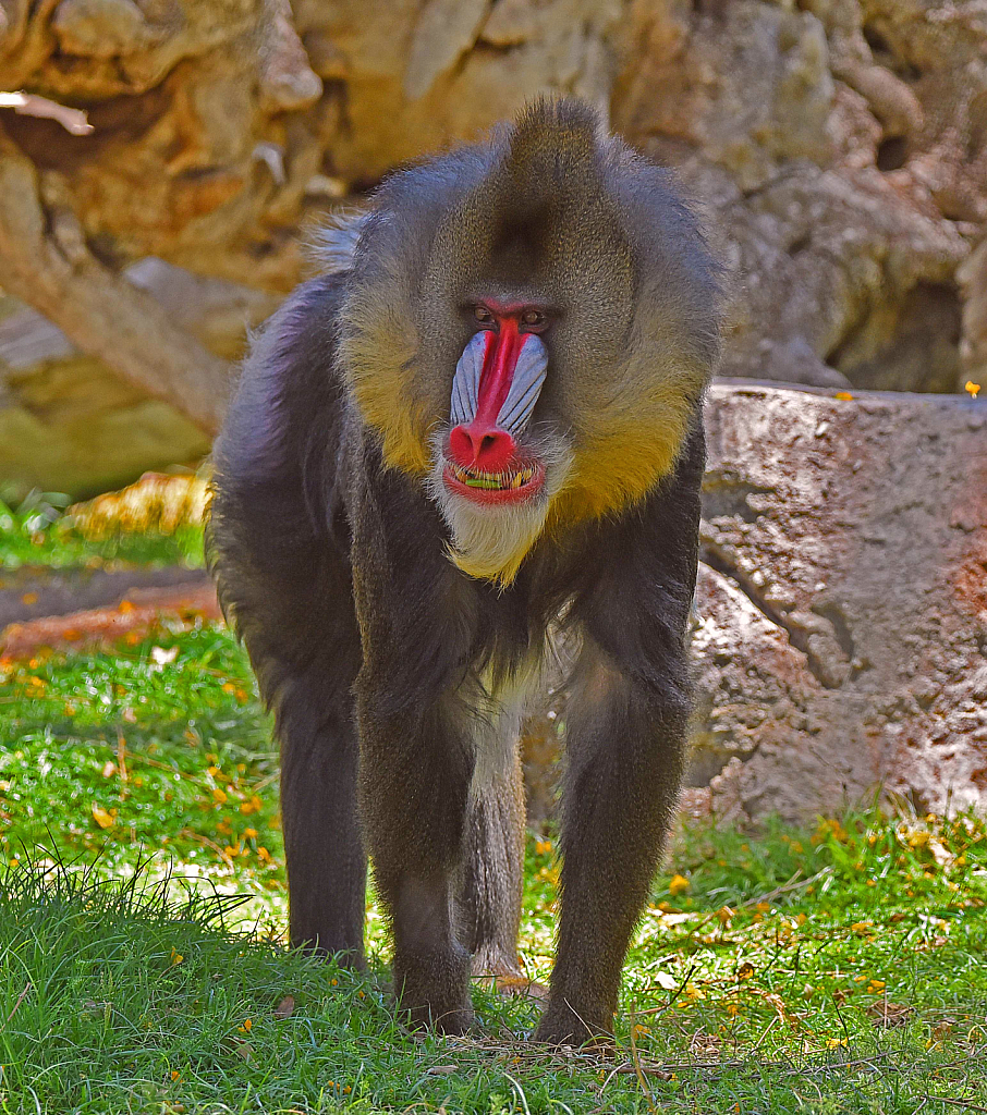
<path fill-rule="evenodd" d="M 720 385 L 707 432 L 690 782 L 987 807 L 987 406 Z"/>

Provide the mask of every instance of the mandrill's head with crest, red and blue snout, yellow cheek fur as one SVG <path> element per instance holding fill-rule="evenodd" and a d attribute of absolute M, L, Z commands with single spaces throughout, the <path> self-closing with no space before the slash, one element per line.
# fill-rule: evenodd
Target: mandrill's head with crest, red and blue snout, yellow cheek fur
<path fill-rule="evenodd" d="M 500 522 L 524 501 L 476 492 L 526 495 L 543 472 L 526 512 L 541 532 L 619 511 L 674 468 L 716 358 L 717 269 L 667 173 L 586 105 L 536 103 L 490 142 L 396 174 L 328 245 L 348 271 L 357 408 L 390 466 L 432 477 L 447 521 L 470 504 L 488 534 L 495 504 Z M 510 435 L 503 467 L 481 468 L 481 419 Z"/>

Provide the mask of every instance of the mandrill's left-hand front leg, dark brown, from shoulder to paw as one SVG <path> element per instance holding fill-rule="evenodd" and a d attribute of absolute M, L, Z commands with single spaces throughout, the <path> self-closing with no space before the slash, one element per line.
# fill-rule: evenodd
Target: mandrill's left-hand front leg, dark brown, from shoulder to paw
<path fill-rule="evenodd" d="M 394 990 L 416 1026 L 473 1018 L 457 904 L 474 747 L 461 687 L 475 638 L 437 515 L 372 443 L 349 508 L 362 666 L 354 686 L 359 814 L 394 929 Z"/>

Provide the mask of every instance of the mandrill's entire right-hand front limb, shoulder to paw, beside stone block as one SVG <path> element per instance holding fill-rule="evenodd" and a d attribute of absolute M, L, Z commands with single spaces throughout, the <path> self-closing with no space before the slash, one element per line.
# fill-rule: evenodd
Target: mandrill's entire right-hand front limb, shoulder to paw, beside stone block
<path fill-rule="evenodd" d="M 676 474 L 601 529 L 612 556 L 574 603 L 583 650 L 567 716 L 562 917 L 540 1040 L 579 1044 L 610 1030 L 678 799 L 703 463 L 697 418 Z"/>

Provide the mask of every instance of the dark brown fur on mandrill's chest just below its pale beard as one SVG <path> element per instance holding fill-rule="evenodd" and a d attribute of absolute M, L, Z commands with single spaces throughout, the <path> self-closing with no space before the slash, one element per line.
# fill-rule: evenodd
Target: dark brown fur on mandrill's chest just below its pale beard
<path fill-rule="evenodd" d="M 387 468 L 372 436 L 349 462 L 346 514 L 365 655 L 424 691 L 452 669 L 487 692 L 536 670 L 546 633 L 579 611 L 607 560 L 612 524 L 539 539 L 509 585 L 451 560 L 451 533 L 420 482 Z"/>

